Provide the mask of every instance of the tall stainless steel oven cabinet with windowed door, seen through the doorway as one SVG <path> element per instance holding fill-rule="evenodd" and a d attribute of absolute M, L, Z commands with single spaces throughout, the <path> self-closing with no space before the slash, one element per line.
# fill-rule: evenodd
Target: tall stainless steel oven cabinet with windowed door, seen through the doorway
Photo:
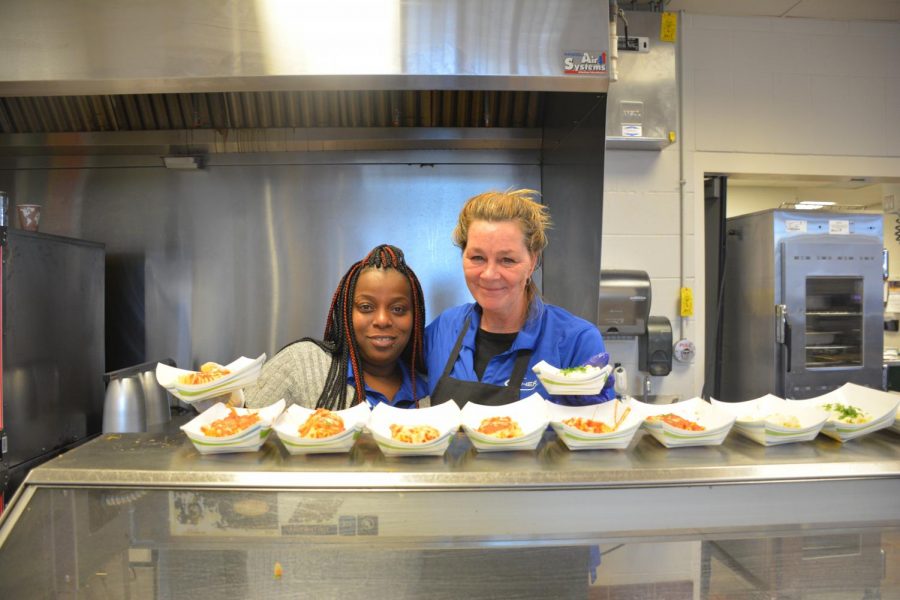
<path fill-rule="evenodd" d="M 882 215 L 771 210 L 726 231 L 721 399 L 880 389 Z"/>

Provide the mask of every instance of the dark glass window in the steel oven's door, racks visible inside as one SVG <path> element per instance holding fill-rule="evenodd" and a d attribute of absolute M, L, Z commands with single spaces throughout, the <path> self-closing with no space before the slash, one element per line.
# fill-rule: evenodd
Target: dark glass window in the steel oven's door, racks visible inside
<path fill-rule="evenodd" d="M 862 277 L 807 277 L 807 369 L 862 365 L 862 290 Z"/>

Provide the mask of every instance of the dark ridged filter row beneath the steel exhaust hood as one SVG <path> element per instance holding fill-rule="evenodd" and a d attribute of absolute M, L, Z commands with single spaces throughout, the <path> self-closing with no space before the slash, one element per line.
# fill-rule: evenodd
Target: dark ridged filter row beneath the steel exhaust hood
<path fill-rule="evenodd" d="M 0 98 L 0 133 L 540 126 L 540 92 L 215 92 Z"/>

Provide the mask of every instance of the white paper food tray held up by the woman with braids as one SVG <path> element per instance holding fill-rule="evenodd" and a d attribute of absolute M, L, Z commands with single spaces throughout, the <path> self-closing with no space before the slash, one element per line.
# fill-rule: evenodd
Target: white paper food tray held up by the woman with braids
<path fill-rule="evenodd" d="M 261 354 L 257 358 L 242 356 L 224 366 L 225 369 L 231 371 L 228 375 L 196 385 L 180 382 L 182 376 L 196 371 L 187 371 L 159 363 L 156 365 L 156 380 L 170 394 L 191 405 L 197 412 L 203 412 L 217 401 L 225 401 L 233 392 L 256 383 L 264 362 L 266 362 L 265 354 Z"/>

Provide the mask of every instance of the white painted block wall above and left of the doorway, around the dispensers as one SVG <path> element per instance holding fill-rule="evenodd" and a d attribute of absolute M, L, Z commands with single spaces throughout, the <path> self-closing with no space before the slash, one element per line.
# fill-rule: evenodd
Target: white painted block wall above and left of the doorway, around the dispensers
<path fill-rule="evenodd" d="M 884 159 L 900 158 L 900 25 L 689 14 L 682 20 L 683 264 L 697 310 L 684 329 L 699 347 L 704 279 L 697 271 L 704 242 L 694 221 L 703 214 L 703 196 L 696 190 L 701 182 L 694 177 L 694 152 L 747 153 L 749 173 L 756 172 L 753 164 L 781 164 L 779 156 L 801 159 L 797 164 L 816 156 L 848 157 L 853 160 L 842 164 L 852 163 L 865 171 L 861 175 L 891 171 L 893 163 Z M 869 162 L 856 160 L 866 157 Z M 675 339 L 681 325 L 678 158 L 677 145 L 659 152 L 607 151 L 602 249 L 604 269 L 650 274 L 651 314 L 672 321 Z M 812 173 L 796 173 L 806 174 Z M 637 343 L 609 340 L 607 346 L 639 393 Z M 653 393 L 699 395 L 700 350 L 693 365 L 676 363 L 671 375 L 652 378 Z"/>

